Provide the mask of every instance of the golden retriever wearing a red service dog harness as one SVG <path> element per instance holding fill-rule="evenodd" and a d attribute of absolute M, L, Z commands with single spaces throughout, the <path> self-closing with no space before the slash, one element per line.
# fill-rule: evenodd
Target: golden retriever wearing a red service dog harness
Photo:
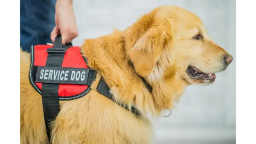
<path fill-rule="evenodd" d="M 86 39 L 81 52 L 97 71 L 96 80 L 84 97 L 60 101 L 51 125 L 52 144 L 149 144 L 153 130 L 148 114 L 172 109 L 186 86 L 212 84 L 215 73 L 233 60 L 209 37 L 198 16 L 177 6 L 160 6 L 124 31 Z M 29 83 L 29 65 L 30 55 L 21 51 L 20 143 L 47 144 L 42 98 Z M 142 115 L 93 90 L 101 78 L 116 101 L 135 106 Z"/>

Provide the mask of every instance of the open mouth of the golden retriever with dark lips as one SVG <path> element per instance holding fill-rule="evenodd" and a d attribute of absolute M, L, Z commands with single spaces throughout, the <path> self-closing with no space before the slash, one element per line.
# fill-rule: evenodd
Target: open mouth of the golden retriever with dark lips
<path fill-rule="evenodd" d="M 215 81 L 215 78 L 216 78 L 214 73 L 210 73 L 210 74 L 204 73 L 199 69 L 195 68 L 194 66 L 188 66 L 187 74 L 190 76 L 191 79 L 207 81 L 207 82 L 213 82 Z"/>

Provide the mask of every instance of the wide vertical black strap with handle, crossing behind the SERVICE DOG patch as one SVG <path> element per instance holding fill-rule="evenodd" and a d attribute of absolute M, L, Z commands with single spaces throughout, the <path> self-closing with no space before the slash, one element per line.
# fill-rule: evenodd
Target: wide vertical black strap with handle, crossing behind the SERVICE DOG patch
<path fill-rule="evenodd" d="M 55 38 L 53 48 L 47 49 L 48 57 L 45 66 L 55 66 L 61 67 L 64 59 L 66 50 L 70 46 L 61 45 L 61 36 L 58 35 Z M 58 115 L 59 109 L 59 100 L 58 100 L 58 87 L 59 84 L 49 84 L 42 83 L 42 102 L 44 110 L 44 122 L 46 126 L 47 136 L 50 141 L 51 129 L 50 124 L 55 120 Z"/>

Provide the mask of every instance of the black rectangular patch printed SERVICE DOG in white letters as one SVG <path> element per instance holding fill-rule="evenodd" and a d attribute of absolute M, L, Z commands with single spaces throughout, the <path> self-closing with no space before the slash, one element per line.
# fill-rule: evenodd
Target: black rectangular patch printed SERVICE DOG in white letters
<path fill-rule="evenodd" d="M 38 66 L 35 82 L 87 85 L 89 69 Z"/>

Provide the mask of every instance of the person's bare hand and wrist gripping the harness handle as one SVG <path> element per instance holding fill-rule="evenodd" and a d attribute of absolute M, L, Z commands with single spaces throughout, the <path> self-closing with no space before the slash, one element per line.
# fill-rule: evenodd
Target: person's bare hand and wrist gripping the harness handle
<path fill-rule="evenodd" d="M 55 23 L 51 40 L 61 34 L 62 44 L 70 43 L 78 36 L 76 18 L 73 12 L 73 0 L 57 0 L 55 4 Z"/>

